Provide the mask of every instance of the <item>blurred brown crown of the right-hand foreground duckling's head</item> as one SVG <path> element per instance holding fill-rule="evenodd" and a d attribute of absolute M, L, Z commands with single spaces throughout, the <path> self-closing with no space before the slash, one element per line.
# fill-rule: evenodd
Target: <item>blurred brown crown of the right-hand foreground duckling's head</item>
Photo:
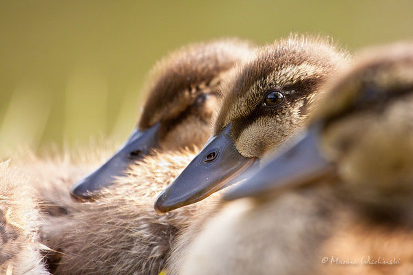
<path fill-rule="evenodd" d="M 386 53 L 386 54 L 383 54 Z M 357 64 L 326 83 L 313 120 L 331 120 L 349 109 L 368 108 L 405 93 L 413 87 L 413 43 L 370 47 Z"/>

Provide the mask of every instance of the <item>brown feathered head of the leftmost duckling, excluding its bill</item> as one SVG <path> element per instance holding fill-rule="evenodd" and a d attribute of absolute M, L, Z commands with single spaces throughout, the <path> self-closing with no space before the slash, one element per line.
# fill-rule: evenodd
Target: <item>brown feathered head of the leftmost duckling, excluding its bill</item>
<path fill-rule="evenodd" d="M 202 146 L 211 133 L 220 83 L 235 63 L 252 52 L 247 41 L 218 39 L 184 46 L 162 58 L 145 86 L 148 98 L 139 128 L 163 122 L 160 148 L 165 151 Z"/>

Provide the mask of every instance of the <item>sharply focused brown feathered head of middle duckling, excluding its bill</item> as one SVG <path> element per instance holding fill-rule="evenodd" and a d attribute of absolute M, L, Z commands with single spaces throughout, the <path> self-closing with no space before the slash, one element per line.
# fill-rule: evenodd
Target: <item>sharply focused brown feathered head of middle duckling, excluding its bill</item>
<path fill-rule="evenodd" d="M 328 39 L 292 35 L 258 50 L 239 66 L 239 74 L 224 83 L 224 102 L 214 124 L 214 134 L 231 123 L 238 151 L 261 157 L 297 133 L 324 81 L 348 64 L 348 54 Z M 271 91 L 283 102 L 264 106 Z"/>

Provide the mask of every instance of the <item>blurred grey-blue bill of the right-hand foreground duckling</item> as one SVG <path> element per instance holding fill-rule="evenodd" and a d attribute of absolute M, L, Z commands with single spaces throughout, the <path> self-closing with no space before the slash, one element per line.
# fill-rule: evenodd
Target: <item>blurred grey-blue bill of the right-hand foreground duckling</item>
<path fill-rule="evenodd" d="M 312 127 L 295 145 L 277 155 L 247 181 L 227 192 L 224 199 L 231 201 L 242 197 L 273 195 L 332 175 L 334 165 L 320 154 L 317 140 L 319 128 Z"/>

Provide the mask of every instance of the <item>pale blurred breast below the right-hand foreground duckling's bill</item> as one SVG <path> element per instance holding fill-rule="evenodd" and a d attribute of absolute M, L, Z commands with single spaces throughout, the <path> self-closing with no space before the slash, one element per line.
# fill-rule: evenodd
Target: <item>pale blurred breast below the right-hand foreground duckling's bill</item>
<path fill-rule="evenodd" d="M 319 190 L 221 205 L 209 221 L 189 228 L 195 237 L 187 248 L 174 247 L 170 274 L 316 274 L 317 245 L 333 223 L 330 200 L 328 190 Z M 320 214 L 331 219 L 320 221 Z"/>

